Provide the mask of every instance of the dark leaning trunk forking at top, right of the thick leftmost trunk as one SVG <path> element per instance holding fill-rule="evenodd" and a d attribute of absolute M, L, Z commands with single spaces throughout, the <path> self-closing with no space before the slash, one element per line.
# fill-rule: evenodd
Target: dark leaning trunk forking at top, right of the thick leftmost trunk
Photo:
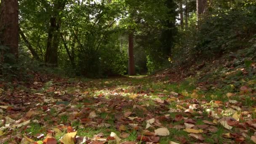
<path fill-rule="evenodd" d="M 57 66 L 58 64 L 58 47 L 59 47 L 59 29 L 61 21 L 58 17 L 66 5 L 67 0 L 57 1 L 54 3 L 53 15 L 50 19 L 50 27 L 48 29 L 48 37 L 45 52 L 45 62 Z"/>

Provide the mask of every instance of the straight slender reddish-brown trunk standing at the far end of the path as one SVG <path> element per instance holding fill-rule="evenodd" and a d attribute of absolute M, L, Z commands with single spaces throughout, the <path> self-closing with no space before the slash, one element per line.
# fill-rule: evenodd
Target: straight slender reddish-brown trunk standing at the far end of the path
<path fill-rule="evenodd" d="M 134 54 L 133 54 L 133 32 L 129 32 L 128 36 L 128 74 L 135 75 L 135 63 L 134 63 Z"/>

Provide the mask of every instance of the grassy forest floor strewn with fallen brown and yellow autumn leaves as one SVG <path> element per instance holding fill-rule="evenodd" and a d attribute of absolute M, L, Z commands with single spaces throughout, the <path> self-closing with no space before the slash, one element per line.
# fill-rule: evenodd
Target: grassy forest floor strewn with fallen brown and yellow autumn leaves
<path fill-rule="evenodd" d="M 248 86 L 226 93 L 192 79 L 43 81 L 0 84 L 0 144 L 256 143 Z"/>

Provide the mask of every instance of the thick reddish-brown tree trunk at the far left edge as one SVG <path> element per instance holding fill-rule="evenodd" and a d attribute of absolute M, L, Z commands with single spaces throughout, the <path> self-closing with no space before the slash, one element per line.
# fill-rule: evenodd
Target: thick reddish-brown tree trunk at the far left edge
<path fill-rule="evenodd" d="M 0 5 L 0 45 L 8 47 L 5 53 L 11 53 L 18 59 L 19 53 L 19 11 L 18 0 L 1 0 Z M 4 50 L 1 50 L 0 62 L 14 62 L 11 59 L 4 59 Z"/>

